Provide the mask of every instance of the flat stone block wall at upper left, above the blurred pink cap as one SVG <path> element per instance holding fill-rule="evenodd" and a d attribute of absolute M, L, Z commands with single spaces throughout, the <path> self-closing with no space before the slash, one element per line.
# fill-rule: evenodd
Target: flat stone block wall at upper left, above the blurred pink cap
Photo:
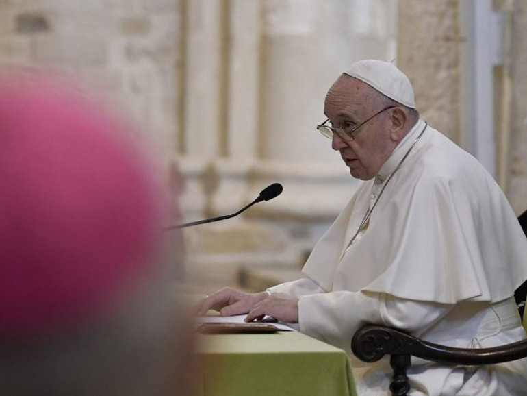
<path fill-rule="evenodd" d="M 179 0 L 2 0 L 0 65 L 59 70 L 98 86 L 177 150 Z"/>

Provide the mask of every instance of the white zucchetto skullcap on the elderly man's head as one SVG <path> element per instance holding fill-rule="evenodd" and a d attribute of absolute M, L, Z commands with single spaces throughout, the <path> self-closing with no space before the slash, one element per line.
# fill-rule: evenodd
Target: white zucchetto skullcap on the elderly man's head
<path fill-rule="evenodd" d="M 383 60 L 359 60 L 344 74 L 360 79 L 404 106 L 415 108 L 412 84 L 397 66 Z"/>

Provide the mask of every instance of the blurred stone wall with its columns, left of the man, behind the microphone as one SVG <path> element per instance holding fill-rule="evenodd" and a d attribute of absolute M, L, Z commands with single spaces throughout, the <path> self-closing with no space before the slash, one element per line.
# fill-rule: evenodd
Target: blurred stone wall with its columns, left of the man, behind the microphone
<path fill-rule="evenodd" d="M 0 64 L 51 67 L 102 88 L 157 139 L 180 180 L 188 276 L 300 267 L 357 187 L 315 126 L 350 62 L 394 58 L 387 0 L 0 0 Z M 200 271 L 203 269 L 203 271 Z"/>

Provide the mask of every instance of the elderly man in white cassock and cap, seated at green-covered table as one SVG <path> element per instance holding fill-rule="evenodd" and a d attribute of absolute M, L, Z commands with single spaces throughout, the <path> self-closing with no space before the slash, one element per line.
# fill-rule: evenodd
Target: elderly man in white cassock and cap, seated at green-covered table
<path fill-rule="evenodd" d="M 270 315 L 346 349 L 359 395 L 387 395 L 387 359 L 350 352 L 366 323 L 427 341 L 483 348 L 526 337 L 513 293 L 527 278 L 527 240 L 483 166 L 422 121 L 394 64 L 356 62 L 327 92 L 332 139 L 363 184 L 307 260 L 305 277 L 261 293 L 224 288 L 203 301 L 222 315 Z M 411 395 L 525 395 L 527 362 L 452 367 L 413 361 Z"/>

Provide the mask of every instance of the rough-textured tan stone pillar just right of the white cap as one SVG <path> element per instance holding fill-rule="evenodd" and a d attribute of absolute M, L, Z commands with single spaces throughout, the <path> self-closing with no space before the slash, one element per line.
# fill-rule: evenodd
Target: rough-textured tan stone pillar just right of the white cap
<path fill-rule="evenodd" d="M 459 0 L 399 0 L 397 66 L 425 119 L 460 143 Z"/>

